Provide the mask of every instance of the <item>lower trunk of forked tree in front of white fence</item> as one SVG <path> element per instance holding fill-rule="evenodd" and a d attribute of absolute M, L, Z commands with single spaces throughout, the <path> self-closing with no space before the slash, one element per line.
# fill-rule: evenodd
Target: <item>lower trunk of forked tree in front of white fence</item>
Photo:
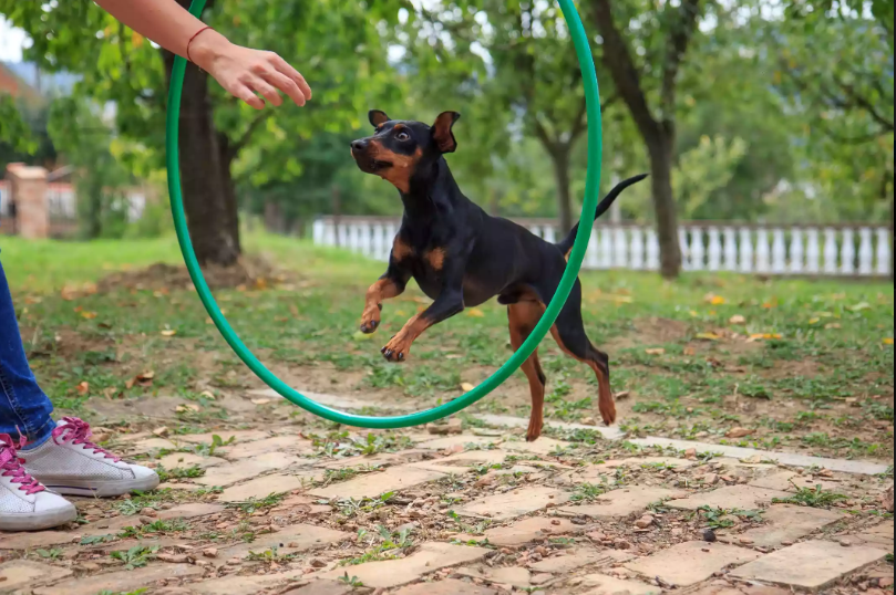
<path fill-rule="evenodd" d="M 660 243 L 660 273 L 666 279 L 674 279 L 681 271 L 681 247 L 678 242 L 678 213 L 672 191 L 672 156 L 674 138 L 671 134 L 659 134 L 647 138 L 650 155 L 650 179 L 653 194 L 653 209 L 657 213 L 657 233 Z"/>

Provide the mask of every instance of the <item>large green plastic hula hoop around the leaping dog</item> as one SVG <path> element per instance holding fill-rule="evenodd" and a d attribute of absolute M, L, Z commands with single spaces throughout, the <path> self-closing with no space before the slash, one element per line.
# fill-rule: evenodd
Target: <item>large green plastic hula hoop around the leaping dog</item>
<path fill-rule="evenodd" d="M 591 227 L 594 226 L 595 211 L 597 209 L 598 191 L 600 186 L 600 161 L 603 158 L 603 142 L 601 142 L 601 118 L 600 118 L 600 93 L 597 85 L 597 75 L 595 74 L 595 63 L 591 58 L 591 48 L 588 42 L 588 36 L 585 33 L 585 28 L 581 24 L 578 11 L 576 10 L 573 0 L 558 0 L 560 10 L 569 28 L 569 33 L 573 38 L 573 43 L 576 48 L 576 55 L 578 56 L 579 66 L 581 67 L 581 80 L 585 84 L 585 98 L 588 106 L 588 174 L 585 186 L 585 200 L 581 206 L 581 225 L 578 228 L 576 242 L 569 253 L 568 264 L 566 272 L 564 272 L 557 292 L 554 299 L 547 305 L 545 314 L 535 326 L 529 337 L 523 343 L 519 349 L 514 353 L 507 362 L 501 366 L 492 376 L 485 379 L 481 385 L 475 387 L 470 393 L 462 397 L 452 400 L 440 407 L 420 411 L 410 415 L 395 416 L 395 417 L 370 417 L 347 414 L 338 411 L 329 407 L 325 407 L 319 403 L 311 400 L 298 390 L 291 388 L 280 378 L 274 375 L 265 365 L 246 347 L 246 345 L 234 332 L 227 319 L 222 314 L 218 304 L 208 289 L 208 284 L 203 278 L 202 269 L 196 260 L 196 254 L 193 251 L 193 243 L 189 240 L 189 232 L 187 230 L 186 215 L 184 213 L 184 199 L 181 194 L 181 167 L 179 167 L 179 150 L 178 150 L 178 121 L 181 117 L 181 96 L 184 88 L 184 72 L 186 70 L 186 60 L 177 58 L 174 62 L 174 70 L 172 71 L 171 90 L 168 91 L 168 114 L 166 124 L 166 165 L 168 169 L 168 194 L 171 195 L 172 215 L 174 216 L 174 227 L 177 232 L 177 241 L 181 244 L 181 251 L 184 254 L 189 276 L 196 291 L 199 294 L 208 315 L 217 326 L 225 341 L 230 345 L 234 352 L 240 359 L 251 369 L 261 380 L 269 387 L 279 393 L 282 397 L 288 399 L 302 409 L 338 424 L 347 426 L 372 428 L 372 429 L 392 429 L 392 428 L 406 428 L 411 426 L 420 426 L 429 424 L 437 419 L 442 419 L 450 415 L 473 405 L 482 399 L 488 393 L 497 388 L 504 380 L 506 380 L 523 363 L 532 355 L 544 336 L 550 330 L 560 309 L 569 298 L 569 292 L 578 276 L 581 261 L 585 258 L 585 251 L 588 248 L 588 240 L 591 236 Z M 196 17 L 200 17 L 205 8 L 206 0 L 193 0 L 189 7 L 189 12 Z"/>

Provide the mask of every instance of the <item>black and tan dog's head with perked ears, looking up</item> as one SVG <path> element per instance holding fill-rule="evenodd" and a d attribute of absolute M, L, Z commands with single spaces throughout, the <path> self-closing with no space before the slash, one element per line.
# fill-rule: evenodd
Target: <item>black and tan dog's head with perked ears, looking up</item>
<path fill-rule="evenodd" d="M 460 117 L 457 112 L 443 112 L 429 125 L 391 119 L 384 112 L 372 109 L 369 118 L 375 132 L 354 140 L 351 156 L 361 171 L 380 176 L 408 194 L 411 179 L 422 167 L 457 148 L 452 127 Z"/>

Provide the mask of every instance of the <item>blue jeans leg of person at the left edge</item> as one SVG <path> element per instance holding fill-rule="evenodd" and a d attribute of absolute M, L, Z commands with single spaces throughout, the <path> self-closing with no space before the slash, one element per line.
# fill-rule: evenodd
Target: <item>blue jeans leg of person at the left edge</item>
<path fill-rule="evenodd" d="M 53 404 L 38 386 L 28 365 L 12 307 L 9 283 L 0 263 L 0 434 L 28 438 L 29 447 L 50 438 Z"/>

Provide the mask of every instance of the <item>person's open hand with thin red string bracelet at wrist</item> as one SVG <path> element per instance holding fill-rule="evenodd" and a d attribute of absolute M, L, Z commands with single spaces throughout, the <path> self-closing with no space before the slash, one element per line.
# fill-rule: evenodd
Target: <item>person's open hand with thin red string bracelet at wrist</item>
<path fill-rule="evenodd" d="M 272 105 L 281 105 L 284 100 L 277 90 L 288 95 L 296 105 L 305 105 L 311 98 L 311 87 L 286 60 L 274 52 L 235 45 L 212 29 L 193 40 L 189 56 L 196 65 L 214 76 L 225 91 L 256 109 L 265 107 L 265 100 Z"/>

